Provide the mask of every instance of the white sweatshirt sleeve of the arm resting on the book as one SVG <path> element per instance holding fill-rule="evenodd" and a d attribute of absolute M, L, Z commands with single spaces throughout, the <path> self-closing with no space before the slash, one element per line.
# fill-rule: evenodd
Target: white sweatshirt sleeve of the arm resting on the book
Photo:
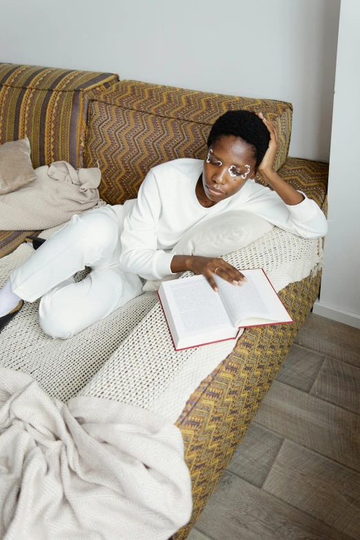
<path fill-rule="evenodd" d="M 137 203 L 123 222 L 120 264 L 124 272 L 152 280 L 172 274 L 170 264 L 174 254 L 157 249 L 160 214 L 159 188 L 150 170 L 140 186 Z"/>

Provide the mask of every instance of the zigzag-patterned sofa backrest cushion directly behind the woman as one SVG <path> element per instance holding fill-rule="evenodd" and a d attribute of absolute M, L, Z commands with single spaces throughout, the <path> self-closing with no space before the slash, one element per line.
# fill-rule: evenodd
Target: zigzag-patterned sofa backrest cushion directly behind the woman
<path fill-rule="evenodd" d="M 90 100 L 86 166 L 99 162 L 100 196 L 110 204 L 137 197 L 148 170 L 181 157 L 203 159 L 214 121 L 227 110 L 263 112 L 277 123 L 278 170 L 288 157 L 292 105 L 171 86 L 121 81 Z"/>

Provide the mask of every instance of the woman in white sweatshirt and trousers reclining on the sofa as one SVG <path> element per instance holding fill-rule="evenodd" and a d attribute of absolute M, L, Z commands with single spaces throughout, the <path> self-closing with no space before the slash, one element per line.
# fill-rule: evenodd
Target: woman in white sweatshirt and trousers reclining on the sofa
<path fill-rule="evenodd" d="M 284 230 L 323 237 L 319 206 L 274 171 L 277 128 L 263 114 L 228 111 L 212 126 L 204 161 L 175 159 L 148 172 L 136 201 L 89 210 L 46 241 L 0 290 L 0 331 L 41 297 L 39 322 L 67 339 L 142 292 L 143 279 L 192 270 L 217 291 L 213 274 L 234 286 L 246 278 L 223 259 L 170 254 L 195 223 L 228 210 L 249 210 Z M 273 188 L 254 182 L 255 174 Z M 86 279 L 74 274 L 90 266 Z"/>

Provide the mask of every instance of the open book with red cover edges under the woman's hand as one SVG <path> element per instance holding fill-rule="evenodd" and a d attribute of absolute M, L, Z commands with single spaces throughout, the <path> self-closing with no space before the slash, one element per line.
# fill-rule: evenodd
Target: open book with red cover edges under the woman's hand
<path fill-rule="evenodd" d="M 176 350 L 235 339 L 239 328 L 293 323 L 262 268 L 241 270 L 242 287 L 214 275 L 219 292 L 203 276 L 163 281 L 159 299 Z"/>

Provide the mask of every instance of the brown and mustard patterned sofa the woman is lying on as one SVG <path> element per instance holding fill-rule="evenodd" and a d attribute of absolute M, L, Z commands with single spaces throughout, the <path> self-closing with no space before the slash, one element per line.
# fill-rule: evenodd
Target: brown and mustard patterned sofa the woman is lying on
<path fill-rule="evenodd" d="M 328 164 L 288 157 L 290 103 L 120 81 L 110 73 L 0 63 L 0 143 L 28 137 L 34 168 L 61 160 L 100 166 L 100 196 L 110 204 L 136 197 L 152 166 L 203 159 L 210 126 L 234 109 L 261 111 L 277 123 L 275 168 L 326 214 Z M 0 257 L 38 232 L 0 232 Z M 279 297 L 294 324 L 246 329 L 189 397 L 176 425 L 192 479 L 193 512 L 173 540 L 185 539 L 199 518 L 317 299 L 320 281 L 318 270 L 283 288 Z"/>

